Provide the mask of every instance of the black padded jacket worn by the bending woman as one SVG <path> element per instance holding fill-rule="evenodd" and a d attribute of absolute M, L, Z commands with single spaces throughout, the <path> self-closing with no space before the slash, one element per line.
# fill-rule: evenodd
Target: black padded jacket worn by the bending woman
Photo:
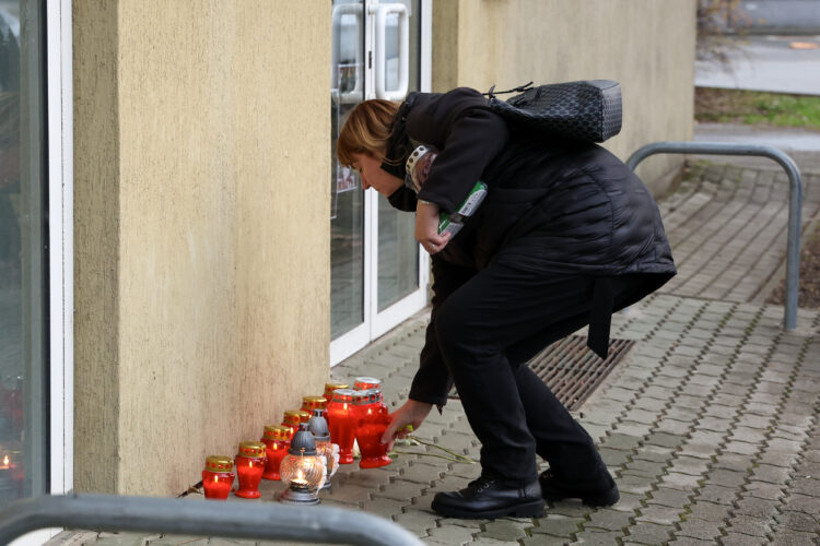
<path fill-rule="evenodd" d="M 544 274 L 599 280 L 646 274 L 654 292 L 675 275 L 658 207 L 643 182 L 610 152 L 594 143 L 544 140 L 488 108 L 479 92 L 456 88 L 419 93 L 399 110 L 387 164 L 403 165 L 411 142 L 440 150 L 418 199 L 452 212 L 477 180 L 488 195 L 475 216 L 432 258 L 433 311 L 410 397 L 442 405 L 450 380 L 438 352 L 434 322 L 447 295 L 494 260 Z M 401 167 L 393 169 L 402 176 Z M 417 195 L 402 188 L 390 195 L 401 210 Z M 596 290 L 598 292 L 598 290 Z M 590 348 L 606 355 L 611 308 L 593 302 Z M 597 344 L 593 325 L 606 330 Z"/>

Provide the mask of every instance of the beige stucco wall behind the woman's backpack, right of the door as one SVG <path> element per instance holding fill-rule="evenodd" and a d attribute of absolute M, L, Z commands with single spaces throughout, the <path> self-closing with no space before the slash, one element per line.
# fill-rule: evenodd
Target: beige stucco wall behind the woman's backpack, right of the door
<path fill-rule="evenodd" d="M 433 90 L 616 80 L 622 159 L 659 140 L 691 140 L 695 0 L 435 0 Z M 647 159 L 656 180 L 679 157 Z"/>

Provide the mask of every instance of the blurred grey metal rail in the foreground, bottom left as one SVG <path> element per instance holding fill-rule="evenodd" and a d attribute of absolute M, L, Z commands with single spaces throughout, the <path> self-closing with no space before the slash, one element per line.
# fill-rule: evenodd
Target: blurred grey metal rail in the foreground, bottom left
<path fill-rule="evenodd" d="M 391 521 L 341 508 L 92 494 L 45 495 L 10 505 L 0 512 L 0 544 L 45 527 L 362 546 L 422 544 Z"/>

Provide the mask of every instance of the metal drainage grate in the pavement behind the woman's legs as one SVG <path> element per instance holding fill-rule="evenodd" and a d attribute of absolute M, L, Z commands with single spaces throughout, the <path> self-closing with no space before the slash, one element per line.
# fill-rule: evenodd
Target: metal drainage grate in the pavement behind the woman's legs
<path fill-rule="evenodd" d="M 632 340 L 610 339 L 609 356 L 601 360 L 586 346 L 586 336 L 570 335 L 536 355 L 528 366 L 569 410 L 581 407 L 634 345 Z M 458 394 L 454 389 L 450 397 Z"/>

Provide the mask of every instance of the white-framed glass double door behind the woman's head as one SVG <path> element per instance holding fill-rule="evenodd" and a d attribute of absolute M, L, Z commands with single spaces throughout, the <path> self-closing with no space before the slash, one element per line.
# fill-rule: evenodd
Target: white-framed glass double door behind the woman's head
<path fill-rule="evenodd" d="M 362 191 L 356 174 L 336 161 L 335 146 L 345 115 L 362 100 L 429 91 L 427 3 L 332 2 L 331 364 L 426 304 L 429 261 L 413 239 L 414 216 Z"/>

